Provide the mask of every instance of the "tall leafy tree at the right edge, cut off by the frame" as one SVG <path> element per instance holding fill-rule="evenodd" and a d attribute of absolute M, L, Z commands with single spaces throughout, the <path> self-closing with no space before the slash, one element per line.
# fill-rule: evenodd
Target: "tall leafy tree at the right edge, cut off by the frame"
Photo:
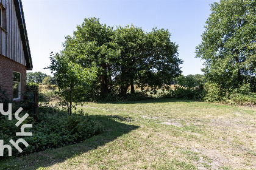
<path fill-rule="evenodd" d="M 255 77 L 256 1 L 220 0 L 211 10 L 196 57 L 208 80 L 236 88 Z"/>

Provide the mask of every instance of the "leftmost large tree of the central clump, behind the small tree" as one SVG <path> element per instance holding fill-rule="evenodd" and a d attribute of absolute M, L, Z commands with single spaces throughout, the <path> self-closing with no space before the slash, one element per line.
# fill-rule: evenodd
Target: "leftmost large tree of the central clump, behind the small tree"
<path fill-rule="evenodd" d="M 109 93 L 112 77 L 112 65 L 118 57 L 119 51 L 112 41 L 113 27 L 108 27 L 96 18 L 85 18 L 82 25 L 77 25 L 73 36 L 66 36 L 63 51 L 74 63 L 84 68 L 98 68 L 98 81 L 101 94 Z"/>

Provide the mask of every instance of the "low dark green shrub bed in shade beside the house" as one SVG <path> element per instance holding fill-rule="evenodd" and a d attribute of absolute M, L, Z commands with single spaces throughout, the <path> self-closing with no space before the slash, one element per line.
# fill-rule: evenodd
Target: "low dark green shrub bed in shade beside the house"
<path fill-rule="evenodd" d="M 101 123 L 82 111 L 69 115 L 63 110 L 44 106 L 39 107 L 38 112 L 39 123 L 34 123 L 32 120 L 26 121 L 26 123 L 33 123 L 33 128 L 30 129 L 33 136 L 23 137 L 29 146 L 24 148 L 22 145 L 22 153 L 13 147 L 12 155 L 24 155 L 78 143 L 102 131 Z M 14 121 L 9 121 L 7 117 L 0 117 L 0 127 L 0 138 L 5 141 L 5 144 L 9 144 L 10 139 L 14 141 L 18 139 L 16 132 L 19 132 L 20 129 L 15 126 Z M 5 149 L 4 157 L 1 157 L 0 160 L 7 157 L 8 152 Z"/>

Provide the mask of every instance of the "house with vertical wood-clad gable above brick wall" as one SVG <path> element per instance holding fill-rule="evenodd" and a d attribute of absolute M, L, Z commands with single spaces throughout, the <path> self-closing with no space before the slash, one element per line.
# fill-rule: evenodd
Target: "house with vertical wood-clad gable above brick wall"
<path fill-rule="evenodd" d="M 0 0 L 0 86 L 10 100 L 23 98 L 32 68 L 21 0 Z"/>

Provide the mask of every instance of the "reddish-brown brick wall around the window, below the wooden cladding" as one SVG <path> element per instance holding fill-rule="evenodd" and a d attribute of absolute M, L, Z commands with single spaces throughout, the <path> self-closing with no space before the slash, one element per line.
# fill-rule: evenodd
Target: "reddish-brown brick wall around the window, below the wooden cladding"
<path fill-rule="evenodd" d="M 0 55 L 0 85 L 9 94 L 10 100 L 13 99 L 13 71 L 21 73 L 21 99 L 26 90 L 26 66 L 16 61 Z"/>

